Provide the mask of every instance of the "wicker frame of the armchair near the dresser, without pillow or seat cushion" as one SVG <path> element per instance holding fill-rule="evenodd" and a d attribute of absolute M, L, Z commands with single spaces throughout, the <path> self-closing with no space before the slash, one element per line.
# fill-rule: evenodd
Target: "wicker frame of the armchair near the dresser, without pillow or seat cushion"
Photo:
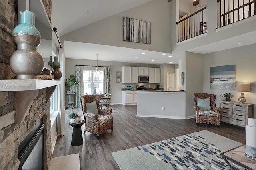
<path fill-rule="evenodd" d="M 213 124 L 213 125 L 220 125 L 220 108 L 214 106 L 214 101 L 216 99 L 216 95 L 214 94 L 208 94 L 208 93 L 194 93 L 194 103 L 195 107 L 194 109 L 196 110 L 196 124 L 198 125 L 199 123 L 205 123 L 205 124 Z M 201 98 L 201 99 L 206 99 L 210 97 L 210 106 L 211 110 L 216 113 L 216 116 L 210 116 L 210 115 L 200 115 L 200 109 L 197 106 L 196 102 L 196 97 Z"/>

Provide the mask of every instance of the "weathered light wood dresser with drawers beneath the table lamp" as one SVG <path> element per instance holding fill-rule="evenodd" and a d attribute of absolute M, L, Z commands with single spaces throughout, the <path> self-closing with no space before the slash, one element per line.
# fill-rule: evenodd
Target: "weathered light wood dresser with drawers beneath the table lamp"
<path fill-rule="evenodd" d="M 253 117 L 252 103 L 238 103 L 234 101 L 219 101 L 220 121 L 246 127 L 248 118 Z"/>

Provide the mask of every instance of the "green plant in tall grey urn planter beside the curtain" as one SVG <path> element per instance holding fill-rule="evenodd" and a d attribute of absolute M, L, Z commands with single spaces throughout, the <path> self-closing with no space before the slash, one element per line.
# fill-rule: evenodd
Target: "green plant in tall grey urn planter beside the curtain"
<path fill-rule="evenodd" d="M 65 81 L 65 86 L 66 86 L 66 94 L 68 95 L 68 105 L 69 107 L 66 107 L 66 109 L 73 109 L 74 106 L 74 95 L 76 94 L 73 90 L 71 90 L 71 87 L 76 87 L 78 86 L 78 81 L 76 81 L 76 78 L 74 75 L 70 75 L 66 81 Z"/>

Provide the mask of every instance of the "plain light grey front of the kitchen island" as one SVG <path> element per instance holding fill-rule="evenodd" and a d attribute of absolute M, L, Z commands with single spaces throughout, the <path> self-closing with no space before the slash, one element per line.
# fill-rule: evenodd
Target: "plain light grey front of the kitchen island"
<path fill-rule="evenodd" d="M 186 119 L 185 92 L 141 90 L 137 94 L 138 117 Z"/>

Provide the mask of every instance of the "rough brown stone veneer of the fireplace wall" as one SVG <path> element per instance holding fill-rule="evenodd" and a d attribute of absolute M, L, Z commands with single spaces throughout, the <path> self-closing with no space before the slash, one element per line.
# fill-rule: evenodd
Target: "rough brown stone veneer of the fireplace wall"
<path fill-rule="evenodd" d="M 51 13 L 51 0 L 44 0 L 48 6 L 48 16 Z M 45 4 L 45 3 L 44 3 Z M 0 79 L 13 79 L 9 60 L 16 50 L 12 30 L 18 23 L 18 0 L 0 0 Z M 17 170 L 19 167 L 18 146 L 36 123 L 43 118 L 44 127 L 44 169 L 50 166 L 50 101 L 46 97 L 46 89 L 37 90 L 29 112 L 23 122 L 16 124 L 14 115 L 15 91 L 0 92 L 0 170 Z M 25 97 L 25 96 L 20 96 Z"/>

